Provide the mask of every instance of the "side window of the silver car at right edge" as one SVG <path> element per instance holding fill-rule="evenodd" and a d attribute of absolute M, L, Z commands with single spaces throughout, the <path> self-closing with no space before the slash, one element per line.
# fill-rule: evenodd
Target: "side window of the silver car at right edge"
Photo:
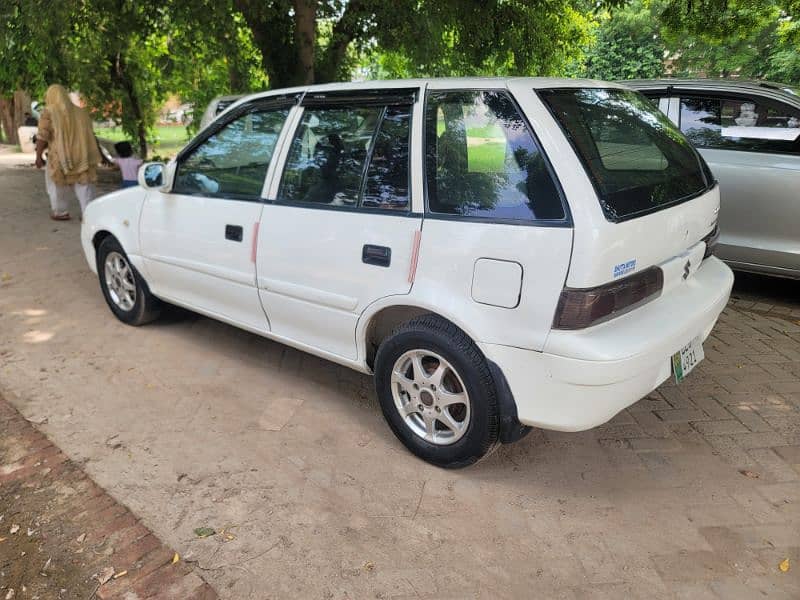
<path fill-rule="evenodd" d="M 700 148 L 800 153 L 800 110 L 767 99 L 686 96 L 680 123 Z"/>

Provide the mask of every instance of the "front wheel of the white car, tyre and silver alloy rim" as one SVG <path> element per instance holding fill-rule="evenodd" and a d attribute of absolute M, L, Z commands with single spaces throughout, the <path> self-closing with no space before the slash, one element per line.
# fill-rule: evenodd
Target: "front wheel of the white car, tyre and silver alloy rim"
<path fill-rule="evenodd" d="M 138 326 L 158 318 L 161 302 L 113 236 L 97 249 L 97 276 L 108 307 L 120 321 Z"/>

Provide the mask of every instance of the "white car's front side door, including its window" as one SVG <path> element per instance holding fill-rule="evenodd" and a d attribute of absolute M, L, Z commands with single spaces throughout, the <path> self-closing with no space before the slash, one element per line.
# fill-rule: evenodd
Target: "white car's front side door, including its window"
<path fill-rule="evenodd" d="M 177 159 L 169 192 L 149 191 L 140 223 L 157 296 L 267 331 L 256 289 L 255 239 L 264 180 L 293 98 L 249 103 Z"/>

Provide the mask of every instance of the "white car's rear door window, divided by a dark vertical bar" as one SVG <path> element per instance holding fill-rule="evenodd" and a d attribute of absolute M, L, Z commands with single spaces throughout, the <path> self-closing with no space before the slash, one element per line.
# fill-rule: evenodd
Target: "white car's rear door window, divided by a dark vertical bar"
<path fill-rule="evenodd" d="M 278 200 L 407 210 L 411 108 L 308 107 Z"/>

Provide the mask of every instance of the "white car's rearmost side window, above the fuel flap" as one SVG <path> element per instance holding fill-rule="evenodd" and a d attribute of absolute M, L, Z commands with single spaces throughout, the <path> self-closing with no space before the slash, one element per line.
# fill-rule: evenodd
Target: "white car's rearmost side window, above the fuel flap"
<path fill-rule="evenodd" d="M 545 157 L 505 91 L 428 94 L 428 209 L 512 220 L 562 220 Z"/>

